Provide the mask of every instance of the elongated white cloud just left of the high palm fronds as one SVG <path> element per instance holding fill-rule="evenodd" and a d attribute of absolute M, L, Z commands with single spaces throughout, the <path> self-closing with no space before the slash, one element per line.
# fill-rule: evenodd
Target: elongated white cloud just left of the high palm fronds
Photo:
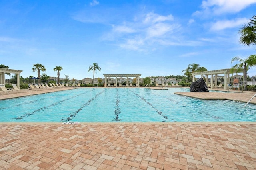
<path fill-rule="evenodd" d="M 246 18 L 236 18 L 234 20 L 217 21 L 216 23 L 212 24 L 212 26 L 210 27 L 210 30 L 220 31 L 227 28 L 234 28 L 247 22 L 248 22 L 248 19 Z"/>

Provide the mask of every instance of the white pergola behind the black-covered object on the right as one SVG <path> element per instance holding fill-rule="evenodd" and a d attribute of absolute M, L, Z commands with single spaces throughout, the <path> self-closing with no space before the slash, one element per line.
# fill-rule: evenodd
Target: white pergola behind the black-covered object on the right
<path fill-rule="evenodd" d="M 230 78 L 229 78 L 229 74 L 233 74 L 233 73 L 241 73 L 243 72 L 243 70 L 237 70 L 237 69 L 233 69 L 233 72 L 230 72 L 231 69 L 222 69 L 222 70 L 212 70 L 212 71 L 202 71 L 202 72 L 193 72 L 191 73 L 193 76 L 193 82 L 195 81 L 195 76 L 197 75 L 201 75 L 201 77 L 203 77 L 204 75 L 206 75 L 206 84 L 208 85 L 208 76 L 211 76 L 211 88 L 213 88 L 213 78 L 215 76 L 215 81 L 217 82 L 217 75 L 219 74 L 224 74 L 224 89 L 227 90 L 228 86 L 227 84 L 230 84 Z M 216 83 L 217 86 L 217 83 Z"/>

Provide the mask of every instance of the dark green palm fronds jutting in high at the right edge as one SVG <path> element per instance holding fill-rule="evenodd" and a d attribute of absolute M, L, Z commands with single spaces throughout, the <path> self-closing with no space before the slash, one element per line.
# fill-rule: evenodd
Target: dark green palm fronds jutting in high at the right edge
<path fill-rule="evenodd" d="M 241 34 L 242 45 L 256 45 L 256 16 L 253 16 L 248 24 L 243 25 L 238 33 Z"/>

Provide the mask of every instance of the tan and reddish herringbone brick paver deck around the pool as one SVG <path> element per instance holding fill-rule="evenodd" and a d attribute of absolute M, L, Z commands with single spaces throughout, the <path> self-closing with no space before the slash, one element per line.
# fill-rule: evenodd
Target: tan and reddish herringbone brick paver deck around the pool
<path fill-rule="evenodd" d="M 229 100 L 235 95 L 238 101 L 253 96 L 249 92 L 225 94 Z M 199 94 L 194 95 L 198 98 Z M 6 95 L 0 98 L 3 96 Z M 0 126 L 3 170 L 256 169 L 256 122 L 58 122 Z"/>

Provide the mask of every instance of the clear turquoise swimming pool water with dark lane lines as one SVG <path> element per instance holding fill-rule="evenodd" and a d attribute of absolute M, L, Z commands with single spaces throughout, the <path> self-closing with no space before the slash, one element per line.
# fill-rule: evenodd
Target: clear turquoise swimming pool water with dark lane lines
<path fill-rule="evenodd" d="M 0 101 L 0 122 L 256 121 L 256 106 L 174 94 L 186 88 L 78 88 Z"/>

